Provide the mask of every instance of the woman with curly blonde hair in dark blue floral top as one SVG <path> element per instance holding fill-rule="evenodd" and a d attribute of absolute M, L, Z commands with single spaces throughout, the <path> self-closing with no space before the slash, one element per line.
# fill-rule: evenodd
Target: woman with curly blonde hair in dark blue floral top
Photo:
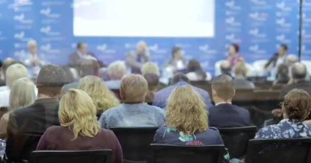
<path fill-rule="evenodd" d="M 174 145 L 223 145 L 219 131 L 208 125 L 202 97 L 192 86 L 176 87 L 167 100 L 166 122 L 154 135 L 154 143 Z M 229 154 L 225 155 L 229 162 Z"/>

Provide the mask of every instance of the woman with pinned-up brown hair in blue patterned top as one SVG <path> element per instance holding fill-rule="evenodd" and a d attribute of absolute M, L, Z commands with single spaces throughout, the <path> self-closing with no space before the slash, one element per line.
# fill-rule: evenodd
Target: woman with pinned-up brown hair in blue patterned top
<path fill-rule="evenodd" d="M 311 138 L 311 126 L 302 124 L 311 108 L 311 97 L 301 89 L 294 89 L 285 95 L 282 102 L 284 119 L 278 124 L 263 127 L 255 139 Z"/>

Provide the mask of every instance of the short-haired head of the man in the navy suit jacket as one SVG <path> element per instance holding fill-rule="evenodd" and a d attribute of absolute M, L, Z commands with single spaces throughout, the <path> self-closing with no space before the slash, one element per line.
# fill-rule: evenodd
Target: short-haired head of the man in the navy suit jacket
<path fill-rule="evenodd" d="M 235 93 L 232 77 L 226 74 L 216 76 L 212 82 L 212 90 L 223 100 L 232 99 Z"/>

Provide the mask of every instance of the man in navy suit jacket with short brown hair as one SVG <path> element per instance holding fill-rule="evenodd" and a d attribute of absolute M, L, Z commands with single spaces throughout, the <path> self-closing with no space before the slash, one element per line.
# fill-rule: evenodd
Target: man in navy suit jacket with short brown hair
<path fill-rule="evenodd" d="M 209 107 L 209 126 L 243 127 L 251 125 L 250 113 L 231 103 L 234 94 L 232 77 L 223 74 L 213 79 L 212 95 L 215 106 Z"/>

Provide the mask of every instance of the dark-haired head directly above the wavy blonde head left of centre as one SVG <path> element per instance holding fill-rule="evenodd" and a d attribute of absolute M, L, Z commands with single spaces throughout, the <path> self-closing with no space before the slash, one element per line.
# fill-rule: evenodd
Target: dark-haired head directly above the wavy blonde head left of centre
<path fill-rule="evenodd" d="M 79 62 L 78 71 L 80 72 L 81 77 L 86 75 L 95 75 L 98 76 L 99 65 L 95 59 L 84 59 Z"/>

